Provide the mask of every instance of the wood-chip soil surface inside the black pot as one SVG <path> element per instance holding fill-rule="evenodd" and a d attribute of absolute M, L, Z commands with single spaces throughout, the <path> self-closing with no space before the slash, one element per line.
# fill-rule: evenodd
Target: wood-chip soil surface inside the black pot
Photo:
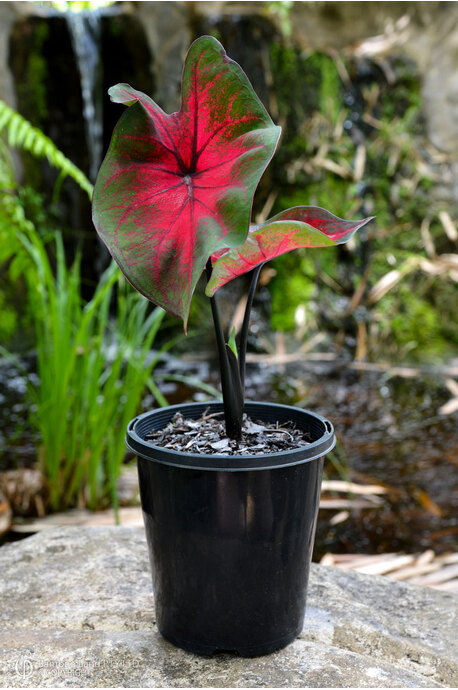
<path fill-rule="evenodd" d="M 265 455 L 294 450 L 312 440 L 291 423 L 254 422 L 243 415 L 242 438 L 234 441 L 226 436 L 223 412 L 204 412 L 200 419 L 185 419 L 177 412 L 166 427 L 145 436 L 155 446 L 205 455 Z"/>

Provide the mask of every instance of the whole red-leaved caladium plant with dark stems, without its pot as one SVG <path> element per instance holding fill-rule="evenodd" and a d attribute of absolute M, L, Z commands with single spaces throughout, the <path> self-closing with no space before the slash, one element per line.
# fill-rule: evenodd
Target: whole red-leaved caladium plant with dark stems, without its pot
<path fill-rule="evenodd" d="M 168 115 L 128 84 L 109 94 L 129 107 L 96 180 L 94 225 L 133 287 L 180 317 L 185 330 L 206 271 L 226 431 L 239 439 L 248 323 L 262 265 L 299 247 L 347 242 L 371 218 L 346 221 L 297 206 L 250 225 L 253 195 L 281 129 L 211 36 L 188 51 L 178 112 Z M 253 275 L 239 342 L 231 334 L 226 343 L 215 292 L 248 271 Z"/>

